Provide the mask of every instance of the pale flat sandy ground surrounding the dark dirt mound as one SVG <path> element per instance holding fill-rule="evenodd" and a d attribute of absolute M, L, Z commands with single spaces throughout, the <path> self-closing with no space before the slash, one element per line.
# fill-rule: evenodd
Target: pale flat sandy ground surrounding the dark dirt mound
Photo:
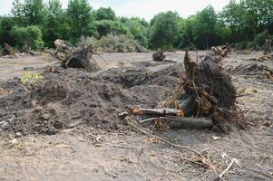
<path fill-rule="evenodd" d="M 233 53 L 223 62 L 225 66 L 234 67 L 251 63 L 240 59 L 258 53 Z M 168 57 L 181 62 L 182 55 L 183 52 L 176 52 Z M 191 56 L 196 56 L 195 52 L 191 52 Z M 109 69 L 128 63 L 151 62 L 151 53 L 107 53 L 103 54 L 103 59 L 107 63 L 99 58 L 97 61 L 103 69 Z M 258 64 L 273 68 L 272 62 Z M 40 57 L 0 59 L 2 81 L 20 77 L 24 67 L 30 64 L 39 70 L 54 61 Z M 110 132 L 78 127 L 53 136 L 21 137 L 1 133 L 0 180 L 215 180 L 234 158 L 238 164 L 232 165 L 223 180 L 272 180 L 273 81 L 233 79 L 238 89 L 246 89 L 238 105 L 251 121 L 248 128 L 234 129 L 226 135 L 211 130 L 142 128 L 174 144 L 200 151 L 211 160 L 214 170 L 198 161 L 192 163 L 196 155 L 187 149 L 179 151 L 130 126 L 126 131 Z"/>

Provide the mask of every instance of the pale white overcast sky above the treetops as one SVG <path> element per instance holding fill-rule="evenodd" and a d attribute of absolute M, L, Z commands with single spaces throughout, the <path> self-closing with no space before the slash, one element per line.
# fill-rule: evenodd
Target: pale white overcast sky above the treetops
<path fill-rule="evenodd" d="M 69 0 L 60 0 L 66 7 Z M 13 0 L 0 0 L 0 14 L 8 14 Z M 94 9 L 112 7 L 119 16 L 138 16 L 146 20 L 160 12 L 177 11 L 182 17 L 195 14 L 207 5 L 212 5 L 216 11 L 229 3 L 229 0 L 89 0 Z"/>

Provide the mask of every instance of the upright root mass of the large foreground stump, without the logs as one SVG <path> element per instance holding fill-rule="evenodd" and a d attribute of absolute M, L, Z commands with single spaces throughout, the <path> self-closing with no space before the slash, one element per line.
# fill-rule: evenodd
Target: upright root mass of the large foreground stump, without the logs
<path fill-rule="evenodd" d="M 210 116 L 214 120 L 229 115 L 234 106 L 236 90 L 229 74 L 222 71 L 213 58 L 199 64 L 190 62 L 189 53 L 184 58 L 185 75 L 182 76 L 182 93 L 177 105 L 186 116 Z"/>

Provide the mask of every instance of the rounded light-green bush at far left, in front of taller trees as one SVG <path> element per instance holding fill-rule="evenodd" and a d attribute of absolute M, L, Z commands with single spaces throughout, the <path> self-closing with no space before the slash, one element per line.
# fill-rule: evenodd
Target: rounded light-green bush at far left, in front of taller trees
<path fill-rule="evenodd" d="M 21 46 L 27 44 L 34 50 L 41 49 L 44 46 L 42 31 L 35 25 L 26 27 L 14 26 L 11 30 L 11 35 Z"/>

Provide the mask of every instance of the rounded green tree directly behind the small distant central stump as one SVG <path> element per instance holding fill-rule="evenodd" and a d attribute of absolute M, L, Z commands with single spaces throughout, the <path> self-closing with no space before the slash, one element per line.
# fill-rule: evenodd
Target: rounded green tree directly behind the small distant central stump
<path fill-rule="evenodd" d="M 151 48 L 172 49 L 180 30 L 180 16 L 174 12 L 157 14 L 151 20 Z"/>

